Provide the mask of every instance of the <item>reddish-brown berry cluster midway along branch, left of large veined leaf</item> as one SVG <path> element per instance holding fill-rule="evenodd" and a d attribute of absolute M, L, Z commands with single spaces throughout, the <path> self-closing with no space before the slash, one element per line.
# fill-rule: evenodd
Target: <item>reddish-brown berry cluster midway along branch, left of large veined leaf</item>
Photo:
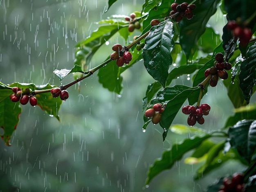
<path fill-rule="evenodd" d="M 123 48 L 120 44 L 114 44 L 112 50 L 115 52 L 111 53 L 110 59 L 117 60 L 117 66 L 121 67 L 124 64 L 128 65 L 132 60 L 132 54 L 126 47 Z"/>

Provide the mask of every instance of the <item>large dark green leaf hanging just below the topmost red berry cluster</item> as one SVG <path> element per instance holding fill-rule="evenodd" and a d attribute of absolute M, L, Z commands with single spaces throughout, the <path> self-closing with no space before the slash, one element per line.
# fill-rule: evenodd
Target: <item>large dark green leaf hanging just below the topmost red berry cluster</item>
<path fill-rule="evenodd" d="M 206 29 L 210 17 L 216 12 L 220 0 L 204 0 L 196 4 L 193 10 L 193 19 L 183 19 L 180 26 L 180 45 L 187 60 L 191 60 L 196 49 L 200 36 Z"/>

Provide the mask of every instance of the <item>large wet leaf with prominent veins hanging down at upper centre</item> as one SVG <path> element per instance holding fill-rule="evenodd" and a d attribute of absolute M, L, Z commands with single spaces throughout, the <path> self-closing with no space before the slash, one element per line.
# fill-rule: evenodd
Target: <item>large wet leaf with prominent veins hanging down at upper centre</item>
<path fill-rule="evenodd" d="M 172 39 L 174 33 L 171 20 L 153 26 L 145 39 L 146 46 L 142 51 L 146 70 L 163 87 L 168 77 L 168 69 L 173 62 L 171 51 L 175 44 Z"/>

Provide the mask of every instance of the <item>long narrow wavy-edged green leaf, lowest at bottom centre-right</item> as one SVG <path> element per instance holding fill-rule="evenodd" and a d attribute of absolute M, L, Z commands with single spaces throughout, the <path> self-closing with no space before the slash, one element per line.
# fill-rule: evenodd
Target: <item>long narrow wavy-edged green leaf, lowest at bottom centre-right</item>
<path fill-rule="evenodd" d="M 148 185 L 150 181 L 160 172 L 166 169 L 171 169 L 173 164 L 180 160 L 186 152 L 197 148 L 204 140 L 208 139 L 209 137 L 211 137 L 211 135 L 205 134 L 201 137 L 196 136 L 190 139 L 185 139 L 181 143 L 173 144 L 171 150 L 164 151 L 162 158 L 155 160 L 154 164 L 149 167 L 146 185 Z"/>

